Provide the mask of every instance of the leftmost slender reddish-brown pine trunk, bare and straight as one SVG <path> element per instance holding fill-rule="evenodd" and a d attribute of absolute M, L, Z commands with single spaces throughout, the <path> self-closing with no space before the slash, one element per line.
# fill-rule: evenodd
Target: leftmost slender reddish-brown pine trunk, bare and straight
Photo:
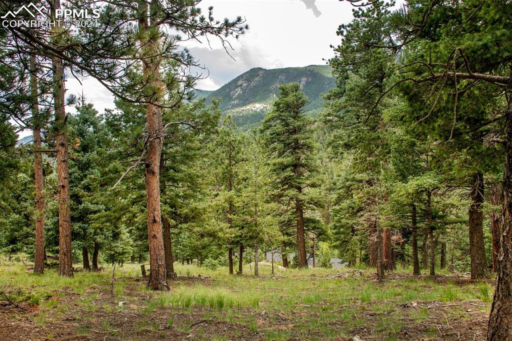
<path fill-rule="evenodd" d="M 42 180 L 42 153 L 41 149 L 41 133 L 39 132 L 39 124 L 37 119 L 39 116 L 39 102 L 37 86 L 35 57 L 30 56 L 30 95 L 32 99 L 32 118 L 35 118 L 34 130 L 32 136 L 34 139 L 34 184 L 35 184 L 35 254 L 34 254 L 34 273 L 45 272 L 45 199 L 43 197 L 43 180 Z"/>

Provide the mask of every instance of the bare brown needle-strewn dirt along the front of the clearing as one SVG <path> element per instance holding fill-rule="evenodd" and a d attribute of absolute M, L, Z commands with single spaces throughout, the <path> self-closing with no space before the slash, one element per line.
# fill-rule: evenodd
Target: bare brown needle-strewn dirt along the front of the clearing
<path fill-rule="evenodd" d="M 394 278 L 391 276 L 389 281 L 402 279 L 404 275 L 400 274 Z M 179 280 L 188 281 L 190 284 L 198 281 L 194 278 Z M 467 284 L 467 280 L 460 278 L 440 278 L 438 281 L 445 280 L 457 285 Z M 252 327 L 226 321 L 215 314 L 209 314 L 210 309 L 201 306 L 190 309 L 156 306 L 148 313 L 141 308 L 150 305 L 155 300 L 156 293 L 140 292 L 140 286 L 140 279 L 129 280 L 123 295 L 128 297 L 125 303 L 120 303 L 118 298 L 112 296 L 108 288 L 97 285 L 88 287 L 86 295 L 74 293 L 69 287 L 52 292 L 54 307 L 50 309 L 37 306 L 15 307 L 3 302 L 0 304 L 0 340 L 282 339 L 279 336 L 269 337 L 266 333 L 269 330 L 292 331 L 285 339 L 294 340 L 483 340 L 487 329 L 488 313 L 485 308 L 488 308 L 488 304 L 482 302 L 414 301 L 397 304 L 391 312 L 375 312 L 375 309 L 365 308 L 364 304 L 354 299 L 353 305 L 360 308 L 355 315 L 360 323 L 349 330 L 350 336 L 332 338 L 325 337 L 322 331 L 315 328 L 309 328 L 306 333 L 295 333 L 294 329 L 301 323 L 304 312 L 282 313 L 237 308 L 237 314 L 255 318 L 257 326 Z M 95 294 L 90 303 L 92 308 L 97 305 L 98 309 L 85 308 L 80 303 L 90 294 Z M 343 309 L 350 307 L 351 305 L 340 306 L 339 313 L 342 314 Z M 422 318 L 417 317 L 418 311 L 422 313 Z M 398 321 L 401 323 L 395 327 L 394 324 Z M 326 321 L 326 324 L 330 329 L 343 330 L 345 321 L 340 318 Z M 398 328 L 392 338 L 381 336 L 388 328 Z"/>

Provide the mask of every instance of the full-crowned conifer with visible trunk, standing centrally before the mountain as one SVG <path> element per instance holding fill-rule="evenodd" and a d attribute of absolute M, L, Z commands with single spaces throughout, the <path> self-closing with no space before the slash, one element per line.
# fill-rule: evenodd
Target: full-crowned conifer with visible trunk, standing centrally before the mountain
<path fill-rule="evenodd" d="M 272 159 L 274 196 L 283 214 L 296 221 L 298 267 L 308 267 L 304 225 L 305 191 L 316 169 L 311 153 L 312 120 L 304 115 L 308 99 L 298 83 L 279 86 L 279 98 L 262 122 L 262 132 Z"/>

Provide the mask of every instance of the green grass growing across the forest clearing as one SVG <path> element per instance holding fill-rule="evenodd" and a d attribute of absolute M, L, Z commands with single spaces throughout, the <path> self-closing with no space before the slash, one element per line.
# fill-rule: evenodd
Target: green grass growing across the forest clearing
<path fill-rule="evenodd" d="M 493 295 L 493 287 L 487 283 L 458 285 L 426 277 L 411 276 L 378 284 L 370 278 L 370 271 L 361 277 L 339 279 L 327 276 L 335 273 L 332 269 L 276 269 L 271 275 L 269 267 L 261 266 L 260 277 L 254 278 L 249 265 L 244 267 L 245 275 L 237 276 L 228 275 L 227 267 L 212 270 L 181 264 L 175 264 L 179 276 L 197 277 L 201 274 L 209 279 L 172 281 L 169 282 L 169 292 L 152 292 L 146 288 L 145 281 L 133 281 L 140 278 L 138 264 L 125 264 L 116 267 L 115 295 L 105 301 L 105 297 L 111 297 L 112 267 L 109 265 L 104 266 L 103 272 L 77 272 L 73 279 L 69 279 L 61 278 L 55 270 L 34 275 L 27 273 L 23 264 L 2 263 L 0 287 L 10 284 L 10 287 L 29 293 L 31 299 L 39 299 L 39 312 L 34 317 L 37 326 L 51 326 L 52 321 L 61 321 L 57 314 L 67 313 L 71 306 L 69 301 L 61 301 L 59 297 L 68 292 L 78 293 L 73 304 L 81 309 L 75 314 L 77 321 L 79 318 L 89 321 L 76 324 L 76 334 L 79 335 L 99 329 L 116 334 L 113 331 L 119 329 L 116 324 L 108 320 L 96 321 L 93 316 L 118 314 L 121 310 L 118 302 L 125 301 L 129 305 L 122 309 L 123 312 L 141 314 L 133 329 L 138 330 L 138 335 L 153 333 L 148 338 L 175 330 L 186 335 L 193 333 L 193 339 L 231 339 L 237 338 L 239 334 L 236 333 L 242 333 L 240 330 L 245 330 L 268 340 L 336 339 L 353 336 L 359 329 L 372 328 L 377 338 L 396 339 L 411 322 L 426 323 L 433 318 L 425 305 L 479 301 L 473 309 L 481 307 L 480 310 L 487 311 Z M 403 306 L 409 308 L 403 309 Z M 222 321 L 241 327 L 237 327 L 231 336 L 220 332 L 209 334 L 206 326 L 191 327 L 190 319 L 183 321 L 179 314 L 197 315 L 194 321 Z M 446 316 L 437 316 L 434 321 L 446 319 L 451 322 L 469 316 L 464 308 L 448 309 L 443 314 Z M 159 323 L 154 321 L 158 316 L 162 316 Z M 96 327 L 93 328 L 93 324 Z M 435 332 L 425 331 L 424 336 L 439 336 L 437 328 Z"/>

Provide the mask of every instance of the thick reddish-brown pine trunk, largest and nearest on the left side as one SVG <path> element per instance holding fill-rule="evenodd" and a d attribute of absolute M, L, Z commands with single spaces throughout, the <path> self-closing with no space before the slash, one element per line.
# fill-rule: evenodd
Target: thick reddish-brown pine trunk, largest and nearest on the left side
<path fill-rule="evenodd" d="M 147 18 L 147 2 L 141 1 L 141 18 L 139 20 L 141 32 L 158 27 L 156 18 Z M 160 209 L 160 155 L 162 153 L 162 136 L 164 134 L 162 123 L 162 109 L 158 105 L 161 100 L 162 81 L 160 76 L 160 37 L 151 37 L 141 41 L 142 48 L 142 74 L 148 88 L 146 97 L 151 102 L 146 103 L 147 146 L 145 157 L 146 182 L 146 214 L 147 237 L 150 250 L 150 278 L 148 287 L 153 290 L 169 290 L 165 271 L 165 252 L 163 248 L 162 221 Z"/>

